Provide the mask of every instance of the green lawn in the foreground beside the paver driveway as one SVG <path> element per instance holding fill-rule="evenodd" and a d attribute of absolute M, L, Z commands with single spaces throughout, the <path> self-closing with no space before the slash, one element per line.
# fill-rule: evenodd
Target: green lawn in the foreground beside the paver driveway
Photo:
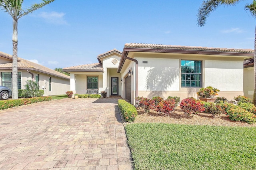
<path fill-rule="evenodd" d="M 128 144 L 136 170 L 252 170 L 256 128 L 128 124 Z"/>

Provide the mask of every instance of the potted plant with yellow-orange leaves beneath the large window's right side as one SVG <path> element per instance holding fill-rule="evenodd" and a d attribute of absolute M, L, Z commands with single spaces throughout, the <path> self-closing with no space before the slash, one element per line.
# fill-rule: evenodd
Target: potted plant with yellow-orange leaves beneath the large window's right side
<path fill-rule="evenodd" d="M 220 90 L 212 86 L 207 86 L 205 88 L 199 89 L 196 94 L 199 96 L 201 101 L 214 102 L 217 99 L 215 96 L 218 95 L 218 91 Z"/>

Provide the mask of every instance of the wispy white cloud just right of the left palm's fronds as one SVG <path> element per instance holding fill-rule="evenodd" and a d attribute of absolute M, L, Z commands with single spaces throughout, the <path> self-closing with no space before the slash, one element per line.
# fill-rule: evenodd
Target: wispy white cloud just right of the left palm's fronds
<path fill-rule="evenodd" d="M 64 25 L 67 24 L 64 19 L 65 15 L 66 14 L 63 12 L 41 12 L 41 14 L 39 14 L 39 17 L 44 18 L 46 22 L 49 23 Z"/>

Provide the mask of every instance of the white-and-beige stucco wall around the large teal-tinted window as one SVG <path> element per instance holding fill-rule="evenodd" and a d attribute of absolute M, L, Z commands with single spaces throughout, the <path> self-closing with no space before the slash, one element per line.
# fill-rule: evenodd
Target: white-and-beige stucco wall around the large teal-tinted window
<path fill-rule="evenodd" d="M 138 96 L 140 97 L 178 96 L 181 99 L 186 97 L 198 99 L 196 92 L 200 87 L 181 87 L 181 60 L 202 61 L 201 87 L 208 85 L 216 87 L 220 90 L 218 96 L 224 96 L 228 100 L 243 95 L 243 57 L 162 53 L 131 53 L 128 57 L 138 61 Z M 133 61 L 132 63 L 135 65 Z M 124 65 L 121 73 L 126 73 L 128 67 L 130 66 Z M 133 70 L 135 71 L 135 67 Z M 136 90 L 134 75 L 132 75 L 132 91 Z M 125 93 L 122 94 L 124 97 Z M 135 97 L 135 93 L 132 92 L 132 95 Z M 134 104 L 135 101 L 131 103 Z"/>

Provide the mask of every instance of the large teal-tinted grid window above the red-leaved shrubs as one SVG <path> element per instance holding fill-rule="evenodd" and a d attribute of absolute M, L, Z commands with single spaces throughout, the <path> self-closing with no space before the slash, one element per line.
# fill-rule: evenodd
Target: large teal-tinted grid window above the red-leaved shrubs
<path fill-rule="evenodd" d="M 202 61 L 181 60 L 181 87 L 201 87 Z"/>

